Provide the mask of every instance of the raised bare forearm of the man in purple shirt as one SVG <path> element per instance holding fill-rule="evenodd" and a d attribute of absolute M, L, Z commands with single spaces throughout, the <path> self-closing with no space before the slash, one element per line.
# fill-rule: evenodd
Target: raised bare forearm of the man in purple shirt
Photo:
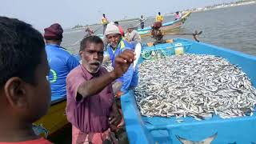
<path fill-rule="evenodd" d="M 115 79 L 114 72 L 108 72 L 98 78 L 82 82 L 82 84 L 78 86 L 78 94 L 81 94 L 83 98 L 97 94 Z"/>

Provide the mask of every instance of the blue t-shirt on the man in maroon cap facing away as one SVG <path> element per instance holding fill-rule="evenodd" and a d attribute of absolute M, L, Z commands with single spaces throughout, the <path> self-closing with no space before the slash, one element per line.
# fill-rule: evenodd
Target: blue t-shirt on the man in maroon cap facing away
<path fill-rule="evenodd" d="M 51 87 L 51 99 L 54 101 L 66 97 L 66 76 L 79 65 L 79 62 L 58 45 L 47 44 L 46 54 L 50 65 L 48 80 Z"/>

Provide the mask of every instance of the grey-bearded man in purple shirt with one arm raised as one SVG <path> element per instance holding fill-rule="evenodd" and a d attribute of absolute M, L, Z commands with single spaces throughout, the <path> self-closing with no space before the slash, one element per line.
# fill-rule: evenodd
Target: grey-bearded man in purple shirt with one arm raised
<path fill-rule="evenodd" d="M 72 143 L 117 143 L 110 125 L 116 126 L 121 117 L 111 82 L 128 70 L 134 61 L 134 53 L 124 50 L 118 54 L 114 70 L 107 72 L 102 67 L 102 39 L 90 36 L 82 39 L 80 56 L 82 64 L 66 78 L 66 115 L 72 124 Z"/>

